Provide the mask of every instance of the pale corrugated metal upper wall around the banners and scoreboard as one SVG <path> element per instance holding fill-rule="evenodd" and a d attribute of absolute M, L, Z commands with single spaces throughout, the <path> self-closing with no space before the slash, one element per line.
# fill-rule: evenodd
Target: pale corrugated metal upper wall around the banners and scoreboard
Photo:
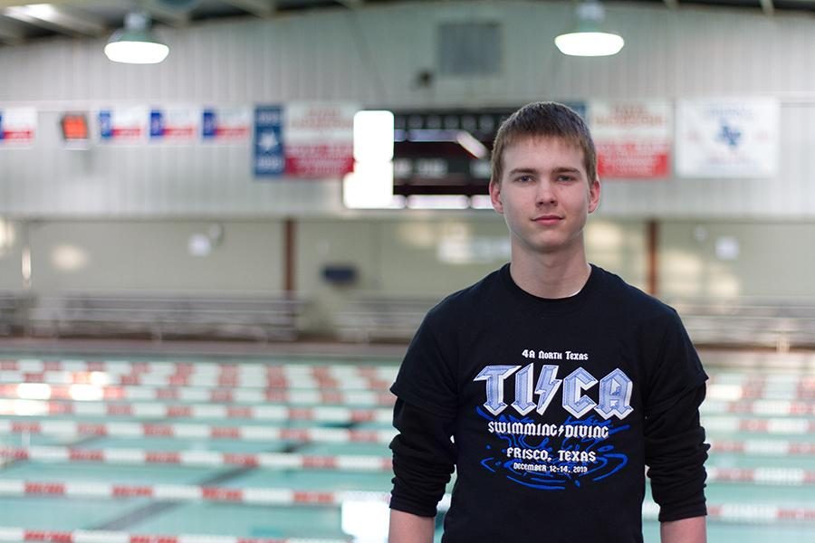
<path fill-rule="evenodd" d="M 86 153 L 59 147 L 59 110 L 122 104 L 229 105 L 352 100 L 368 106 L 515 106 L 531 100 L 776 96 L 782 100 L 775 179 L 670 179 L 605 186 L 609 216 L 815 216 L 815 20 L 759 10 L 609 5 L 626 48 L 570 58 L 552 40 L 570 3 L 470 1 L 367 6 L 158 28 L 158 66 L 108 62 L 104 40 L 52 39 L 0 50 L 0 107 L 34 103 L 34 149 L 0 149 L 0 213 L 45 216 L 282 216 L 340 214 L 329 181 L 257 181 L 251 147 L 149 146 Z M 436 26 L 502 24 L 503 72 L 436 77 Z"/>

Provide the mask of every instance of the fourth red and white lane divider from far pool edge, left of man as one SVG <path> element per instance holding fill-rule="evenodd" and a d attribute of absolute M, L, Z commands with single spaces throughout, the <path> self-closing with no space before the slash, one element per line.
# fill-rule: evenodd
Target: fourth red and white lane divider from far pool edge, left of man
<path fill-rule="evenodd" d="M 0 415 L 19 416 L 117 416 L 132 418 L 245 419 L 257 421 L 316 421 L 321 423 L 379 423 L 393 421 L 391 409 L 349 407 L 288 407 L 286 405 L 167 405 L 157 402 L 107 404 L 103 402 L 60 403 L 40 400 L 0 400 Z"/>

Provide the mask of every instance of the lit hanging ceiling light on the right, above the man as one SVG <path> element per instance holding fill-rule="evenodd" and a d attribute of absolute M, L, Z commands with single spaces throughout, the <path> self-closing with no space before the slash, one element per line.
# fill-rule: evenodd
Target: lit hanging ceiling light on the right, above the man
<path fill-rule="evenodd" d="M 575 9 L 577 25 L 570 33 L 561 33 L 555 45 L 563 54 L 571 56 L 609 56 L 617 54 L 625 41 L 617 33 L 603 32 L 600 24 L 605 9 L 598 0 L 584 0 Z"/>

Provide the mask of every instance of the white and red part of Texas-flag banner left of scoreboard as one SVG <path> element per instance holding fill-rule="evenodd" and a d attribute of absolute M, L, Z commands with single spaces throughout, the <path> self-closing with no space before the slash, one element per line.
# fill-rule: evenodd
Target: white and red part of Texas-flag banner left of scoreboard
<path fill-rule="evenodd" d="M 353 104 L 293 103 L 286 106 L 286 176 L 338 180 L 354 167 Z"/>

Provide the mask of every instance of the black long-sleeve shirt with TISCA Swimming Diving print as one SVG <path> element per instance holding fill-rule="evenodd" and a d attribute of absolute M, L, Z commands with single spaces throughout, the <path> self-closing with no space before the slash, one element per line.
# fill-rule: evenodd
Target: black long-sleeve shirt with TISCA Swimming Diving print
<path fill-rule="evenodd" d="M 396 383 L 390 506 L 444 541 L 642 541 L 645 467 L 660 520 L 706 514 L 705 372 L 676 312 L 597 267 L 536 298 L 508 266 L 431 310 Z"/>

